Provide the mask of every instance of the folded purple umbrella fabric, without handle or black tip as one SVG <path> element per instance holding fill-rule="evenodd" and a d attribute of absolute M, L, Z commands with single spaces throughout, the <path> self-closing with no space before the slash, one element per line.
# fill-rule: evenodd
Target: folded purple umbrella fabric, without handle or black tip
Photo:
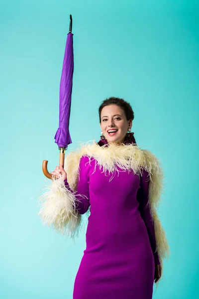
<path fill-rule="evenodd" d="M 67 35 L 59 97 L 59 128 L 55 134 L 55 143 L 59 148 L 66 148 L 72 143 L 69 133 L 69 119 L 71 112 L 71 95 L 73 86 L 74 55 L 73 33 Z"/>

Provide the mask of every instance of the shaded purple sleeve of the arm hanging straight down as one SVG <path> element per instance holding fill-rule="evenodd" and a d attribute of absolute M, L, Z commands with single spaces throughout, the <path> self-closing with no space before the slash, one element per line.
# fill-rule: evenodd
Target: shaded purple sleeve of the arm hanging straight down
<path fill-rule="evenodd" d="M 146 170 L 142 170 L 142 175 L 140 175 L 140 188 L 137 192 L 137 200 L 139 202 L 139 211 L 142 219 L 147 228 L 149 235 L 149 240 L 151 244 L 151 249 L 154 256 L 155 265 L 160 265 L 158 252 L 156 251 L 156 238 L 155 238 L 155 229 L 152 219 L 152 215 L 149 207 L 149 183 L 150 177 L 149 173 Z"/>

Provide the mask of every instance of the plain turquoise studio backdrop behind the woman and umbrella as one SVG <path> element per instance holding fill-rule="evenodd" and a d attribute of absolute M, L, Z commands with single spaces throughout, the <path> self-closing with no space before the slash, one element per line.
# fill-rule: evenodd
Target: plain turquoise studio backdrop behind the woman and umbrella
<path fill-rule="evenodd" d="M 0 298 L 72 299 L 85 232 L 43 226 L 37 198 L 59 163 L 59 83 L 73 16 L 73 143 L 99 141 L 98 108 L 129 101 L 132 132 L 165 170 L 162 225 L 171 248 L 154 299 L 199 287 L 199 5 L 192 0 L 0 1 Z M 86 220 L 86 219 L 85 219 Z M 86 286 L 85 286 L 86 287 Z"/>

